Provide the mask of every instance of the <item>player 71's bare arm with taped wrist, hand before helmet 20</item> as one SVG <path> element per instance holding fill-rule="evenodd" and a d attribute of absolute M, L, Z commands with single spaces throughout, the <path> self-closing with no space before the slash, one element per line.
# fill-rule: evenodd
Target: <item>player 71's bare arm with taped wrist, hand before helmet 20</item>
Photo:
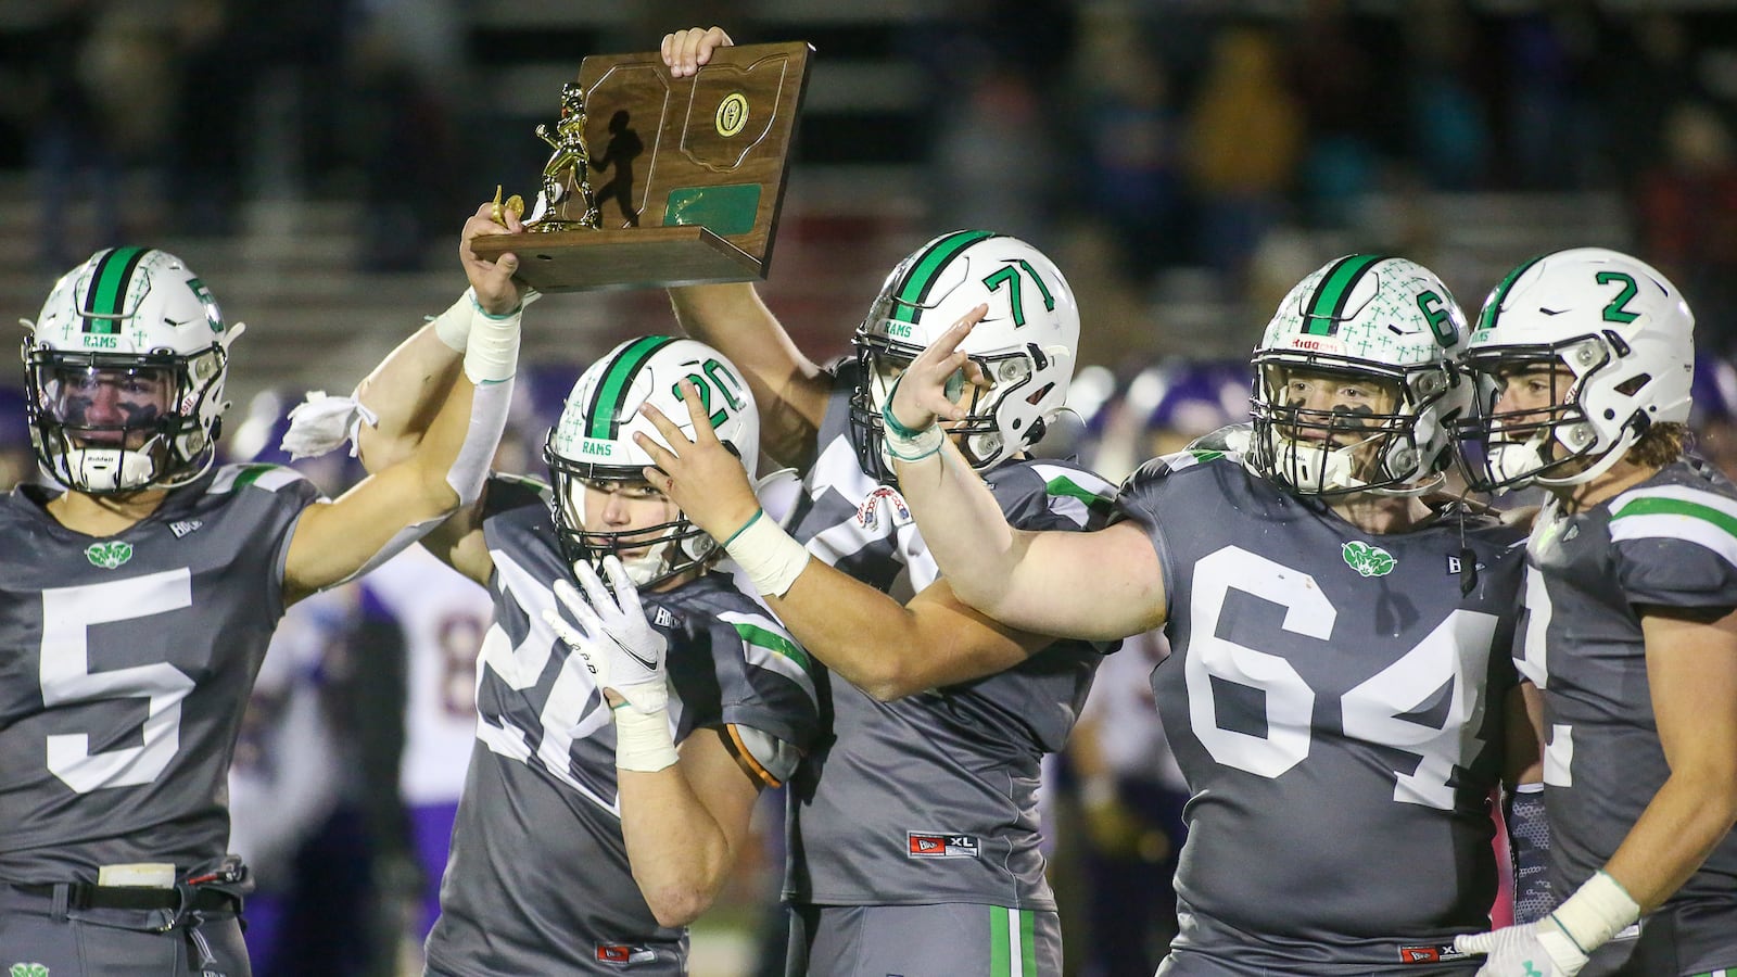
<path fill-rule="evenodd" d="M 695 440 L 655 407 L 646 407 L 646 415 L 674 447 L 665 450 L 650 438 L 639 440 L 658 462 L 646 476 L 693 525 L 712 539 L 728 541 L 726 549 L 790 635 L 851 685 L 875 699 L 898 699 L 1004 671 L 1053 641 L 966 607 L 945 579 L 902 605 L 809 560 L 799 542 L 763 515 L 742 462 L 703 422 L 703 400 L 691 389 L 683 393 Z"/>

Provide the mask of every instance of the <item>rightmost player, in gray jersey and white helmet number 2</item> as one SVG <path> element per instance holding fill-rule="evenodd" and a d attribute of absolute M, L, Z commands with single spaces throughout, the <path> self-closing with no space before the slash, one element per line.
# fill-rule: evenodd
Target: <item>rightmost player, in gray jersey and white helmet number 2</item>
<path fill-rule="evenodd" d="M 1572 249 L 1490 292 L 1473 485 L 1541 485 L 1520 673 L 1542 690 L 1544 920 L 1461 940 L 1501 977 L 1737 968 L 1737 487 L 1683 455 L 1694 315 Z"/>

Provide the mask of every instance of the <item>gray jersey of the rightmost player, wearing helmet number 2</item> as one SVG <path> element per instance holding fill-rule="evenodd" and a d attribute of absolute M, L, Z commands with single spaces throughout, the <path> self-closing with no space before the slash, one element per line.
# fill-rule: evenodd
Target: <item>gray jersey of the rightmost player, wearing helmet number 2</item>
<path fill-rule="evenodd" d="M 1680 461 L 1582 513 L 1549 502 L 1527 553 L 1522 675 L 1544 690 L 1551 888 L 1615 854 L 1669 775 L 1647 683 L 1640 607 L 1737 607 L 1737 487 Z M 1655 654 L 1669 654 L 1655 648 Z M 1737 833 L 1588 974 L 1737 967 Z"/>

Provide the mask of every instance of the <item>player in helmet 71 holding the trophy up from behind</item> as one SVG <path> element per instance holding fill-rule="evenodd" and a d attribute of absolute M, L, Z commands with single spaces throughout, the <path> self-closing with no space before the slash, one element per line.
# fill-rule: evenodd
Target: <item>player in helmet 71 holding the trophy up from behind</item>
<path fill-rule="evenodd" d="M 730 38 L 679 31 L 672 71 Z M 1056 641 L 961 605 L 882 452 L 891 382 L 957 316 L 985 306 L 973 353 L 995 377 L 959 426 L 1009 518 L 1094 525 L 1110 485 L 1025 450 L 1067 402 L 1079 309 L 1032 245 L 941 235 L 903 259 L 823 370 L 750 285 L 670 290 L 683 327 L 747 370 L 766 454 L 792 482 L 749 490 L 743 464 L 681 419 L 653 417 L 653 483 L 728 541 L 778 617 L 829 666 L 832 737 L 792 782 L 790 974 L 1060 974 L 1061 932 L 1039 848 L 1037 784 L 1067 742 L 1105 647 Z M 688 407 L 695 410 L 695 407 Z"/>

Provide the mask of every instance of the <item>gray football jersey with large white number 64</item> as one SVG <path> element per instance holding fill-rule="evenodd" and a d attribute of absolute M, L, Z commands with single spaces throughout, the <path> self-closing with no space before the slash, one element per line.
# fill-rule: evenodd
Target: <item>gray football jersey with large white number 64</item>
<path fill-rule="evenodd" d="M 1192 794 L 1179 972 L 1475 970 L 1445 947 L 1496 899 L 1523 532 L 1362 532 L 1205 450 L 1146 462 L 1117 508 L 1169 601 L 1152 690 Z"/>

